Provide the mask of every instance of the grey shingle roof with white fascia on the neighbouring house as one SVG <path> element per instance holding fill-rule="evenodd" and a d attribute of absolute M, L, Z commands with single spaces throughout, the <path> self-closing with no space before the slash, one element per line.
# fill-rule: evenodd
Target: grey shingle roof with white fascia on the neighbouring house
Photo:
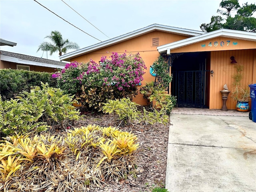
<path fill-rule="evenodd" d="M 66 65 L 65 62 L 54 61 L 29 55 L 23 55 L 18 53 L 12 53 L 8 51 L 1 51 L 1 60 L 14 62 L 18 64 L 26 64 L 26 65 L 34 65 L 34 66 L 42 66 L 42 67 L 50 67 L 50 68 L 61 68 L 63 69 Z"/>

